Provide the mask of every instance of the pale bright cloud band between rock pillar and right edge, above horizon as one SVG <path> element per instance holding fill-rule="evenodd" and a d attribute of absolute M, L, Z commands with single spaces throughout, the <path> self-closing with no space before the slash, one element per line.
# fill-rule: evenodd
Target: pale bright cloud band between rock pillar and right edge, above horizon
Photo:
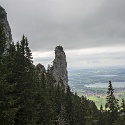
<path fill-rule="evenodd" d="M 69 67 L 125 66 L 125 55 L 122 52 L 68 55 L 67 60 L 70 63 Z"/>

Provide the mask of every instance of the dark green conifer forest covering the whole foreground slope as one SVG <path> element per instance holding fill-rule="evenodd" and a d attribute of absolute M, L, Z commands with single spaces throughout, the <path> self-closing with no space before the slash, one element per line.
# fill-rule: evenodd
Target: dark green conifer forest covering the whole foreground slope
<path fill-rule="evenodd" d="M 125 125 L 125 101 L 119 104 L 111 81 L 105 107 L 79 97 L 62 81 L 55 85 L 51 67 L 33 64 L 29 41 L 6 50 L 0 26 L 0 125 Z"/>

